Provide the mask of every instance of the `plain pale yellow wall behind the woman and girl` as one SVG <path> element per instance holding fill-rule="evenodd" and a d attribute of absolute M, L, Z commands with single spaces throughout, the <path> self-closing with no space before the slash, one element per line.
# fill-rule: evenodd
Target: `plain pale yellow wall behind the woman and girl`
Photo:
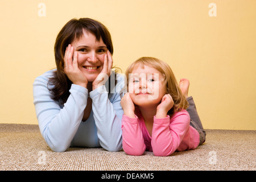
<path fill-rule="evenodd" d="M 55 67 L 56 35 L 80 17 L 109 28 L 123 71 L 154 56 L 188 78 L 205 129 L 256 130 L 255 0 L 0 0 L 0 123 L 37 124 L 32 83 Z"/>

